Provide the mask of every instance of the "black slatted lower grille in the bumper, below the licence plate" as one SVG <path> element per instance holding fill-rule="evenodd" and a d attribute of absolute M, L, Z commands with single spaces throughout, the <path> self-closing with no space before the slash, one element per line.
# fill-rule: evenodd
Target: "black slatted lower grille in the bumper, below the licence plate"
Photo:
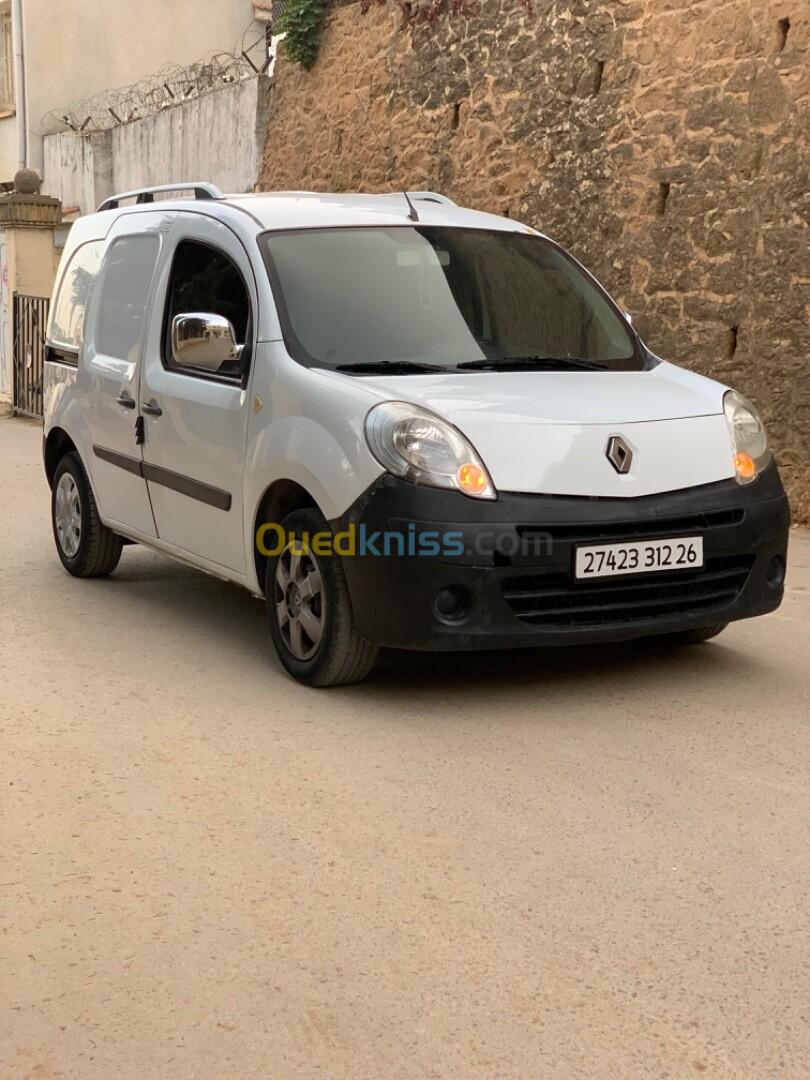
<path fill-rule="evenodd" d="M 622 534 L 626 536 L 625 531 Z M 504 578 L 501 589 L 515 616 L 532 626 L 609 626 L 677 612 L 710 611 L 737 599 L 753 555 L 710 558 L 701 570 L 577 582 L 568 573 Z"/>

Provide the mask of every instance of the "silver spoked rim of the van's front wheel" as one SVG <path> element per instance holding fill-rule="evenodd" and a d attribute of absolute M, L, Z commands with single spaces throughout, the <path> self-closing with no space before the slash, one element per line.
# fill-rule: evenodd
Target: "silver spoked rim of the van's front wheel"
<path fill-rule="evenodd" d="M 275 617 L 281 636 L 296 660 L 311 660 L 323 638 L 326 603 L 318 562 L 298 541 L 275 564 Z"/>

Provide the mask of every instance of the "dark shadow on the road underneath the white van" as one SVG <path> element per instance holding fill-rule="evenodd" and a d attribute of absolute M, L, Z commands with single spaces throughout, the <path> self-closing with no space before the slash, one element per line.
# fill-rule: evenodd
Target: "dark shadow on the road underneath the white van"
<path fill-rule="evenodd" d="M 264 602 L 239 586 L 178 565 L 154 553 L 126 554 L 114 578 L 94 583 L 99 590 L 126 592 L 127 611 L 143 611 L 153 624 L 171 623 L 205 654 L 215 645 L 212 662 L 239 658 L 243 675 L 286 678 L 270 644 Z M 733 631 L 732 631 L 733 633 Z M 189 640 L 190 638 L 190 640 Z M 330 690 L 364 703 L 390 703 L 396 694 L 411 702 L 450 692 L 455 707 L 472 702 L 483 690 L 509 691 L 551 688 L 579 696 L 632 687 L 661 693 L 671 686 L 674 697 L 698 692 L 711 681 L 715 688 L 756 677 L 762 662 L 732 644 L 730 637 L 700 646 L 673 646 L 649 638 L 603 646 L 545 649 L 498 649 L 481 652 L 408 652 L 382 650 L 367 681 Z M 312 691 L 300 688 L 303 693 Z"/>

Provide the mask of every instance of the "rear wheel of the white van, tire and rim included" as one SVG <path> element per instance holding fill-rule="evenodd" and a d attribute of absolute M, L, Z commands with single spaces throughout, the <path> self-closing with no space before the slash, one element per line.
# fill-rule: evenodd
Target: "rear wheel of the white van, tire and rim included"
<path fill-rule="evenodd" d="M 118 566 L 123 541 L 98 516 L 98 508 L 78 454 L 56 467 L 51 522 L 62 565 L 75 578 L 104 578 Z"/>

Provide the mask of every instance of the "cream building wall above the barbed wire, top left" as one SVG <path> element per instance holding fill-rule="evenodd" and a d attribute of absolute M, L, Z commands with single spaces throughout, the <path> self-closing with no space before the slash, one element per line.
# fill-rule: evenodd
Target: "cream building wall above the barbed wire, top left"
<path fill-rule="evenodd" d="M 30 164 L 39 172 L 42 118 L 51 109 L 137 82 L 167 64 L 231 52 L 253 22 L 253 0 L 25 0 L 23 6 Z M 0 179 L 17 167 L 6 126 L 14 130 L 13 118 L 0 121 Z"/>

